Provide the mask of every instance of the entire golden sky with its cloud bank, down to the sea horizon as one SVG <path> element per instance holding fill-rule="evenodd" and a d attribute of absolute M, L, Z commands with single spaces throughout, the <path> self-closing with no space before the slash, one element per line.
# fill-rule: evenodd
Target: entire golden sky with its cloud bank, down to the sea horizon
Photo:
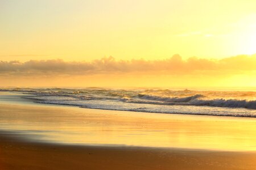
<path fill-rule="evenodd" d="M 0 28 L 0 86 L 256 86 L 254 0 L 0 0 Z"/>

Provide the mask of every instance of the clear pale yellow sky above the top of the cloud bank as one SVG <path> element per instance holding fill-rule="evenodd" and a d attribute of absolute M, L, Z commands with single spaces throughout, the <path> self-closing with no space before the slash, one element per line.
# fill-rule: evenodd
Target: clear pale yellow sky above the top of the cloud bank
<path fill-rule="evenodd" d="M 256 1 L 0 2 L 2 60 L 256 53 Z"/>

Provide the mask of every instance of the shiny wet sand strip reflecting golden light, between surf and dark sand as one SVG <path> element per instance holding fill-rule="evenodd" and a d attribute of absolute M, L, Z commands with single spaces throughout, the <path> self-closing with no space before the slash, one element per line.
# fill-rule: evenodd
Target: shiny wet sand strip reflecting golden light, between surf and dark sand
<path fill-rule="evenodd" d="M 0 130 L 59 143 L 256 150 L 255 118 L 1 105 Z"/>

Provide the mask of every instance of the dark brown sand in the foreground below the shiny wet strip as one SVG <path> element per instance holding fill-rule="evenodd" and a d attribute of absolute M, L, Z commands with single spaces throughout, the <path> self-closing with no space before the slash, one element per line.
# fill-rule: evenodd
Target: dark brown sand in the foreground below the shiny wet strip
<path fill-rule="evenodd" d="M 255 152 L 68 146 L 0 136 L 0 169 L 255 169 Z"/>

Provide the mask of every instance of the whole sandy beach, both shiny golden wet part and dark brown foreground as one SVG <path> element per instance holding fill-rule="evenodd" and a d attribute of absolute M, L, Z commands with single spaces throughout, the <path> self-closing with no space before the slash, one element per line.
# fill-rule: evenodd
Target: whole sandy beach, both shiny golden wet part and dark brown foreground
<path fill-rule="evenodd" d="M 0 105 L 0 169 L 255 169 L 255 133 L 254 118 L 104 111 L 13 96 Z"/>

